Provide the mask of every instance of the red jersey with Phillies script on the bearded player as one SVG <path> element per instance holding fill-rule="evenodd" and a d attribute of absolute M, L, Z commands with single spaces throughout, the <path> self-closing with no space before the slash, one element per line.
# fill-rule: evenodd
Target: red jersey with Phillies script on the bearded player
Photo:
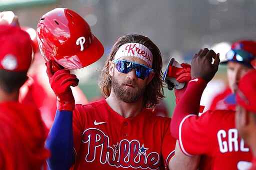
<path fill-rule="evenodd" d="M 174 154 L 171 119 L 144 108 L 135 117 L 123 118 L 105 99 L 73 111 L 76 161 L 72 170 L 164 170 Z"/>

